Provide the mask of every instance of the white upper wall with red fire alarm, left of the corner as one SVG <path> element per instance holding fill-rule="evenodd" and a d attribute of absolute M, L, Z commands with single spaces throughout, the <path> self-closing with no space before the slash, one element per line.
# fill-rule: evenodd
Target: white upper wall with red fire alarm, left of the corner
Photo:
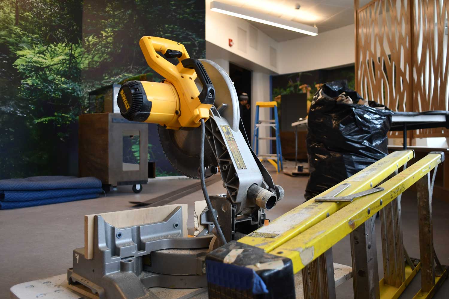
<path fill-rule="evenodd" d="M 210 3 L 211 0 L 206 0 L 206 41 L 252 61 L 273 73 L 278 73 L 279 43 L 241 18 L 212 12 Z M 257 43 L 255 44 L 257 49 L 250 45 L 250 27 L 257 33 Z M 240 36 L 241 39 L 239 39 L 238 28 L 246 31 L 246 38 Z M 229 47 L 228 39 L 233 40 L 232 47 Z M 276 65 L 270 63 L 270 47 L 277 51 Z M 241 48 L 244 48 L 245 51 L 242 51 Z"/>

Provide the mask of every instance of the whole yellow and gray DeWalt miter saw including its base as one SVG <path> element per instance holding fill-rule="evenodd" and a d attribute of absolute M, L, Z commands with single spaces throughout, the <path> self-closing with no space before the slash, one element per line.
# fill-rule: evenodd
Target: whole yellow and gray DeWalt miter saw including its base
<path fill-rule="evenodd" d="M 182 257 L 164 250 L 208 250 L 214 234 L 215 247 L 237 240 L 264 225 L 265 211 L 284 196 L 250 147 L 228 74 L 213 61 L 190 58 L 180 43 L 144 36 L 139 44 L 148 65 L 165 79 L 124 83 L 117 99 L 120 113 L 129 121 L 158 124 L 168 160 L 181 173 L 201 180 L 207 208 L 198 218 L 207 229 L 195 238 L 179 238 L 177 222 L 175 227 L 169 225 L 179 211 L 161 223 L 119 232 L 96 216 L 94 257 L 88 259 L 83 248 L 75 249 L 68 279 L 100 298 L 151 298 L 146 292 L 151 286 L 206 286 L 204 255 L 192 251 L 184 255 L 193 269 L 179 263 L 169 267 L 167 263 Z M 169 61 L 173 58 L 176 65 Z M 227 192 L 209 197 L 204 180 L 218 168 Z M 127 241 L 119 240 L 119 233 L 128 236 Z"/>

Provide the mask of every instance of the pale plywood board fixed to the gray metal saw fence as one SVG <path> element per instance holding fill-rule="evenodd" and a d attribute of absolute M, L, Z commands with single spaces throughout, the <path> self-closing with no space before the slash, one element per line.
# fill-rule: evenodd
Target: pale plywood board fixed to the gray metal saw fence
<path fill-rule="evenodd" d="M 141 208 L 135 210 L 108 212 L 84 216 L 84 256 L 90 260 L 93 258 L 93 234 L 94 217 L 100 215 L 110 225 L 118 228 L 129 227 L 162 221 L 176 207 L 182 207 L 182 231 L 183 237 L 187 237 L 187 204 L 170 204 L 160 207 Z"/>

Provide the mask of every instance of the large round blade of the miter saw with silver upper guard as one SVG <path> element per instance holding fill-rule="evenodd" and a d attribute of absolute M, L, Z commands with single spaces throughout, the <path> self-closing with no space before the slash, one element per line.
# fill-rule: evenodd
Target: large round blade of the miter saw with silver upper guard
<path fill-rule="evenodd" d="M 240 109 L 237 92 L 231 79 L 215 62 L 205 59 L 200 61 L 215 88 L 214 106 L 218 108 L 221 104 L 227 105 L 220 116 L 229 122 L 232 130 L 237 131 Z M 199 179 L 201 127 L 171 130 L 158 125 L 158 133 L 163 152 L 173 167 L 189 178 Z M 204 143 L 204 165 L 206 167 L 216 165 L 216 159 L 207 140 Z"/>

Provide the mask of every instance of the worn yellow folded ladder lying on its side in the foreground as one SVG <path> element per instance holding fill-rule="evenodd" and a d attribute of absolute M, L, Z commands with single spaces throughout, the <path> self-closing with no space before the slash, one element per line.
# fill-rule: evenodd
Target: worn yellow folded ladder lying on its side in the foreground
<path fill-rule="evenodd" d="M 335 298 L 332 246 L 349 234 L 354 298 L 396 299 L 419 270 L 421 290 L 414 298 L 431 298 L 447 277 L 447 266 L 440 264 L 433 248 L 431 212 L 436 169 L 443 161 L 444 154 L 430 152 L 407 168 L 407 161 L 413 157 L 414 152 L 411 150 L 393 152 L 235 244 L 240 244 L 238 246 L 242 248 L 262 249 L 262 265 L 266 264 L 267 256 L 271 256 L 270 263 L 282 260 L 284 267 L 271 268 L 273 273 L 291 271 L 291 268 L 293 273 L 302 271 L 304 298 L 331 299 Z M 404 170 L 399 173 L 402 166 Z M 434 171 L 431 176 L 432 169 Z M 407 254 L 402 242 L 401 227 L 401 194 L 415 183 L 418 198 L 419 259 L 413 259 Z M 374 230 L 377 212 L 380 212 L 382 244 L 379 246 L 382 246 L 384 269 L 384 278 L 380 282 Z M 230 251 L 233 250 L 231 247 L 229 246 Z M 227 267 L 226 262 L 223 263 Z M 276 290 L 272 289 L 274 274 L 263 272 L 267 267 L 260 265 L 258 263 L 259 268 L 254 268 L 260 269 L 255 271 L 255 275 L 267 282 L 266 292 L 262 293 L 268 297 L 261 292 L 256 295 L 249 290 L 249 298 L 294 298 L 294 290 L 289 293 L 285 276 L 278 284 L 283 283 L 287 287 L 282 289 L 282 293 L 275 294 Z M 238 259 L 233 262 L 233 266 L 251 267 L 239 264 Z M 230 268 L 222 269 L 224 272 L 232 272 Z M 279 273 L 277 275 L 282 277 Z M 208 277 L 209 297 L 225 298 L 225 294 L 232 294 L 235 288 L 231 280 L 224 282 L 220 279 L 210 280 Z"/>

